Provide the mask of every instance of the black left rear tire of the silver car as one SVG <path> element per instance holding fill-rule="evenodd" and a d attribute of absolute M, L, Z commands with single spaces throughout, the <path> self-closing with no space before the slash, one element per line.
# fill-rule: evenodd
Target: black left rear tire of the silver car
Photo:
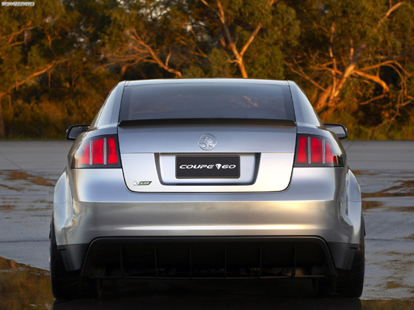
<path fill-rule="evenodd" d="M 66 271 L 63 258 L 57 249 L 55 225 L 50 224 L 50 282 L 57 300 L 98 298 L 99 280 L 81 278 L 80 271 Z"/>

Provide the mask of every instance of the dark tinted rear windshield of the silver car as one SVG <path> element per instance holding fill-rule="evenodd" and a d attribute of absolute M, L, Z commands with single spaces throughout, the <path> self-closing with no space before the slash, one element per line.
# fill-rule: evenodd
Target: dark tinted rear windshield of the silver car
<path fill-rule="evenodd" d="M 173 118 L 295 120 L 286 85 L 174 83 L 125 87 L 119 121 Z"/>

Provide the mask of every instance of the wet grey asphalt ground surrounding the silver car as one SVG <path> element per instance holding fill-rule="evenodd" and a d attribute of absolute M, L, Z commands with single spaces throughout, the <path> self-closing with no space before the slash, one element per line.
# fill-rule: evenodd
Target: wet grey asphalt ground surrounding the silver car
<path fill-rule="evenodd" d="M 0 309 L 414 309 L 414 141 L 343 141 L 362 187 L 361 300 L 315 300 L 306 281 L 268 288 L 119 282 L 98 301 L 53 304 L 48 278 L 53 187 L 70 141 L 0 141 Z"/>

